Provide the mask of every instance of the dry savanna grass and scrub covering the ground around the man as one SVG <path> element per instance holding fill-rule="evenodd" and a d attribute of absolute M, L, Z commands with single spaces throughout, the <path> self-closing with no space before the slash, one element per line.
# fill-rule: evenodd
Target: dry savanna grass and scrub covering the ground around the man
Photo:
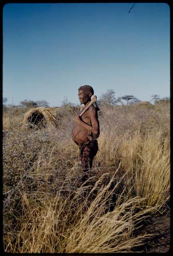
<path fill-rule="evenodd" d="M 5 252 L 146 252 L 143 245 L 157 235 L 145 230 L 146 220 L 169 208 L 169 99 L 110 100 L 100 99 L 90 186 L 80 182 L 79 148 L 71 139 L 75 112 L 68 102 L 51 131 L 22 129 L 32 106 L 4 106 Z"/>

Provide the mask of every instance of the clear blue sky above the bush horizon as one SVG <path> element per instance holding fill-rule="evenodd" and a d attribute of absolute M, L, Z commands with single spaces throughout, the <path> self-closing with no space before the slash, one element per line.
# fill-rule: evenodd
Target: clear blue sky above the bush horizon
<path fill-rule="evenodd" d="M 89 84 L 151 100 L 170 96 L 170 10 L 165 3 L 6 4 L 3 97 L 7 104 L 64 97 Z"/>

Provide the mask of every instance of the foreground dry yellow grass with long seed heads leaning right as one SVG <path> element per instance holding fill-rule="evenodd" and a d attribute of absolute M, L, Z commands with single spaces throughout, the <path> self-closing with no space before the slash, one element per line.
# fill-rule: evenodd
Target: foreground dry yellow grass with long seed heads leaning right
<path fill-rule="evenodd" d="M 131 252 L 134 246 L 143 244 L 144 238 L 150 235 L 134 236 L 133 231 L 136 223 L 151 209 L 136 213 L 136 207 L 142 200 L 136 197 L 116 204 L 110 212 L 107 203 L 114 178 L 106 186 L 105 178 L 106 174 L 100 177 L 86 198 L 82 197 L 86 186 L 81 186 L 65 200 L 61 196 L 62 186 L 55 198 L 45 197 L 43 206 L 33 204 L 24 194 L 21 228 L 16 234 L 16 242 L 8 242 L 6 252 Z M 96 197 L 89 202 L 89 196 L 96 188 Z"/>

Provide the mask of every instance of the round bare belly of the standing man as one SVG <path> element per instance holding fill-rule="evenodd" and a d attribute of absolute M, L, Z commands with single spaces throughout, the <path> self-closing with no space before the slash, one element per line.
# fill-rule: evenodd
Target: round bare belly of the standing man
<path fill-rule="evenodd" d="M 73 126 L 72 138 L 78 146 L 81 146 L 83 142 L 88 141 L 88 131 L 79 124 L 75 123 Z"/>

